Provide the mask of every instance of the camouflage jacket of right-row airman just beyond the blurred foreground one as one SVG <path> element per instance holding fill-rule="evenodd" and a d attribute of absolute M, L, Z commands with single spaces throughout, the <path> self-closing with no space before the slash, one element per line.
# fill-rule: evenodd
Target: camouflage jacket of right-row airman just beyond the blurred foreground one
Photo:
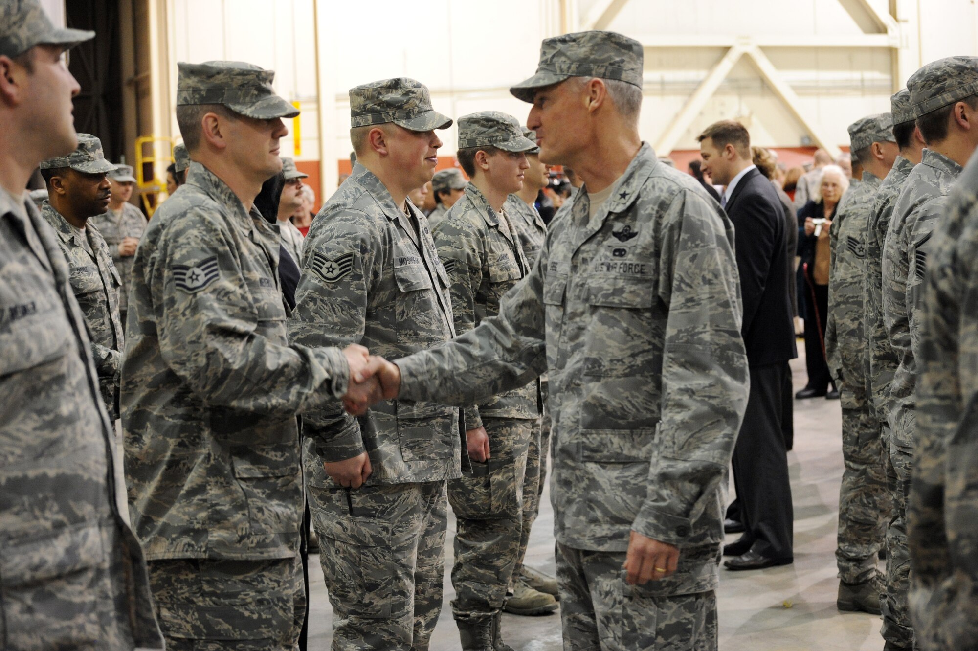
<path fill-rule="evenodd" d="M 916 312 L 928 239 L 960 171 L 954 160 L 924 150 L 893 206 L 883 244 L 883 318 L 900 359 L 890 386 L 890 427 L 894 441 L 903 448 L 913 448 L 916 362 L 912 341 L 919 336 Z"/>

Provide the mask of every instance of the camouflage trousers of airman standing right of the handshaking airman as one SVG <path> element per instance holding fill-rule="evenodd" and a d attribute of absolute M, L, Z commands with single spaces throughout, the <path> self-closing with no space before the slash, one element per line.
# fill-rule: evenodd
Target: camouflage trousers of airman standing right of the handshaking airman
<path fill-rule="evenodd" d="M 441 613 L 445 482 L 308 487 L 333 649 L 425 651 Z"/>

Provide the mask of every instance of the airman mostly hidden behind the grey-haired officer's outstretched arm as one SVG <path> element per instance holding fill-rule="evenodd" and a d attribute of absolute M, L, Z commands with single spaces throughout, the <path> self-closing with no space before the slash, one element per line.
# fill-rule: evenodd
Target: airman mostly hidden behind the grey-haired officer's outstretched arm
<path fill-rule="evenodd" d="M 537 142 L 536 133 L 523 127 L 523 135 Z M 540 162 L 540 150 L 530 150 L 526 152 L 526 160 L 530 163 L 527 174 L 534 171 L 535 165 L 543 166 Z M 548 169 L 543 168 L 546 175 Z M 549 182 L 549 180 L 548 180 Z M 531 183 L 529 178 L 523 180 L 523 190 L 519 194 L 512 194 L 506 200 L 506 209 L 512 217 L 512 224 L 519 236 L 519 243 L 523 247 L 523 254 L 526 255 L 530 267 L 536 264 L 543 249 L 544 240 L 547 239 L 547 225 L 544 223 L 540 213 L 537 212 L 533 203 L 527 202 L 523 197 L 527 196 L 527 184 Z M 534 185 L 530 188 L 534 199 L 539 189 Z M 550 454 L 550 412 L 547 411 L 547 374 L 540 376 L 540 393 L 543 402 L 543 413 L 539 422 L 535 425 L 538 431 L 534 432 L 530 438 L 530 448 L 526 455 L 526 476 L 523 479 L 523 526 L 522 536 L 519 542 L 519 557 L 516 560 L 516 568 L 513 570 L 513 577 L 516 584 L 513 587 L 513 595 L 507 598 L 504 610 L 510 613 L 518 613 L 522 610 L 523 601 L 534 599 L 534 591 L 546 592 L 553 596 L 558 596 L 556 579 L 549 577 L 535 568 L 523 565 L 523 558 L 526 556 L 526 547 L 530 541 L 530 530 L 537 515 L 540 513 L 540 499 L 544 492 L 544 481 L 547 478 L 547 456 Z M 516 591 L 524 595 L 523 600 L 517 598 Z"/>

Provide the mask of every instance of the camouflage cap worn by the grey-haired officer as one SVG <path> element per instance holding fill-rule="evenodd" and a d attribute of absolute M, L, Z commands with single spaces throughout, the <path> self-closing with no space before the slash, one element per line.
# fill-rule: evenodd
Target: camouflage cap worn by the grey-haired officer
<path fill-rule="evenodd" d="M 642 88 L 644 62 L 642 43 L 614 31 L 579 31 L 545 38 L 537 73 L 510 92 L 532 103 L 538 88 L 569 77 L 618 79 Z"/>

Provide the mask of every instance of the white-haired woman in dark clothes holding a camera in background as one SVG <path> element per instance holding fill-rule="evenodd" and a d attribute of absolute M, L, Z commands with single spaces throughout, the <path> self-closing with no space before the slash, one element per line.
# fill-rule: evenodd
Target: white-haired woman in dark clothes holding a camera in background
<path fill-rule="evenodd" d="M 808 384 L 795 398 L 838 398 L 835 382 L 825 363 L 825 321 L 828 312 L 828 229 L 839 200 L 849 189 L 849 179 L 838 165 L 822 168 L 818 193 L 798 210 L 798 255 L 801 279 L 798 290 L 805 301 L 805 357 Z M 831 384 L 832 390 L 828 391 Z"/>

